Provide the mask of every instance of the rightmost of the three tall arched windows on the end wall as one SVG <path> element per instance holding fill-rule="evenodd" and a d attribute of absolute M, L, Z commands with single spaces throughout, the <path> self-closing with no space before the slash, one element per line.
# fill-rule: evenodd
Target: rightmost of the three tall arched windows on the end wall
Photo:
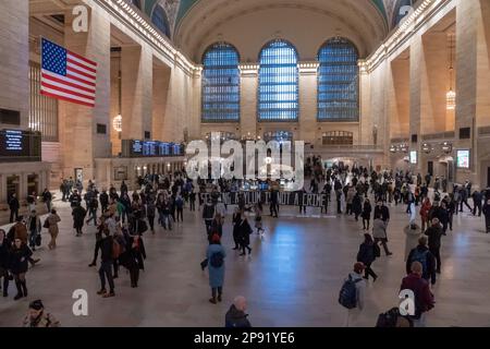
<path fill-rule="evenodd" d="M 359 68 L 347 39 L 328 40 L 318 52 L 318 121 L 359 120 Z"/>

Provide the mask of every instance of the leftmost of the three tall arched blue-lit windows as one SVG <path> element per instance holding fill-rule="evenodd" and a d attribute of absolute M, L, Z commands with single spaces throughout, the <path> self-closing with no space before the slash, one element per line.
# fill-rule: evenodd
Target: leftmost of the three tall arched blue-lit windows
<path fill-rule="evenodd" d="M 203 122 L 240 121 L 240 56 L 225 43 L 203 56 Z"/>

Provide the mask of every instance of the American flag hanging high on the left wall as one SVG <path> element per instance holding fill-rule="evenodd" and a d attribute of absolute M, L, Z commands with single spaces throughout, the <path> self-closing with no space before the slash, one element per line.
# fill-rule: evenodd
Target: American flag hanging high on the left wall
<path fill-rule="evenodd" d="M 94 107 L 97 63 L 42 38 L 41 95 Z"/>

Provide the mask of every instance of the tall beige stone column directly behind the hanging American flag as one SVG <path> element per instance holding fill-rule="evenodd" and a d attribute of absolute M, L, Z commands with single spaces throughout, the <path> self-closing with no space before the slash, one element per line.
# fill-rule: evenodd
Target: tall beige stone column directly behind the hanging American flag
<path fill-rule="evenodd" d="M 97 4 L 89 8 L 87 33 L 75 33 L 71 9 L 65 12 L 65 47 L 98 63 L 95 108 L 60 101 L 60 143 L 63 176 L 84 169 L 84 181 L 94 179 L 94 158 L 110 156 L 109 135 L 96 134 L 97 123 L 110 123 L 110 22 Z"/>

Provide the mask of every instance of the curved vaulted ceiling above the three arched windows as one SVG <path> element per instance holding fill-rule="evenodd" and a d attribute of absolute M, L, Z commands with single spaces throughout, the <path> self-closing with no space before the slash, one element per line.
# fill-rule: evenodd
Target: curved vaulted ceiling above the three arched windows
<path fill-rule="evenodd" d="M 331 36 L 350 38 L 368 56 L 416 0 L 145 0 L 150 16 L 157 3 L 167 12 L 172 40 L 200 61 L 207 46 L 225 40 L 255 61 L 267 39 L 283 37 L 303 46 L 303 59 Z M 305 41 L 313 41 L 310 46 Z M 258 47 L 257 47 L 258 46 Z"/>

